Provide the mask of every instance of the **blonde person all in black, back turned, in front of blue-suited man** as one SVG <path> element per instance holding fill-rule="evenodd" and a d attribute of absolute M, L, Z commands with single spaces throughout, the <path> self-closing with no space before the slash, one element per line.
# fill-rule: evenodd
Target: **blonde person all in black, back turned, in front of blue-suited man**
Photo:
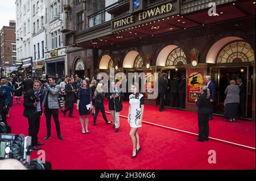
<path fill-rule="evenodd" d="M 199 134 L 196 141 L 209 140 L 209 114 L 210 114 L 210 90 L 207 86 L 200 87 L 201 95 L 196 99 L 196 106 L 198 107 L 198 124 Z"/>

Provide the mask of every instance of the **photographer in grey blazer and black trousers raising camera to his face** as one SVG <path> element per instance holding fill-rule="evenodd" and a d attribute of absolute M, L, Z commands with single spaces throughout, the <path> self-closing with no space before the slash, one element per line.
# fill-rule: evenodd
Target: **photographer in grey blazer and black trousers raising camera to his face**
<path fill-rule="evenodd" d="M 55 84 L 55 77 L 48 78 L 49 84 L 44 83 L 46 89 L 44 96 L 44 115 L 46 115 L 46 124 L 47 124 L 47 136 L 44 140 L 51 138 L 51 116 L 55 122 L 57 136 L 60 140 L 64 140 L 64 137 L 60 135 L 60 121 L 59 121 L 59 92 L 60 86 Z"/>

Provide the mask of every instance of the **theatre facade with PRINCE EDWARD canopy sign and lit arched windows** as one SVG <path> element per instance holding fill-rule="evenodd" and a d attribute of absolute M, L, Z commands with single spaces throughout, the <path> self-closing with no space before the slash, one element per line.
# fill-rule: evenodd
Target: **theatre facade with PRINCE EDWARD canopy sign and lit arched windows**
<path fill-rule="evenodd" d="M 66 14 L 71 11 L 68 8 Z M 111 15 L 108 21 L 106 14 Z M 70 28 L 69 23 L 64 31 L 70 74 L 92 77 L 114 68 L 126 75 L 167 73 L 168 81 L 185 75 L 187 111 L 197 111 L 199 87 L 210 75 L 216 86 L 217 115 L 224 110 L 228 81 L 241 78 L 246 85 L 244 119 L 255 120 L 254 0 L 123 0 L 87 14 L 84 30 Z M 158 105 L 157 99 L 146 103 Z"/>

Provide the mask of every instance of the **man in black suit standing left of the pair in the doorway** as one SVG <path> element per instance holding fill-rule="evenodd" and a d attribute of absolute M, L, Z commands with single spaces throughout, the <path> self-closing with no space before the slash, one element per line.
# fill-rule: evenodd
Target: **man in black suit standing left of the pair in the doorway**
<path fill-rule="evenodd" d="M 160 99 L 160 103 L 159 103 L 159 111 L 160 112 L 165 110 L 165 108 L 164 108 L 164 94 L 166 93 L 167 86 L 168 86 L 166 78 L 167 78 L 167 74 L 163 73 L 162 77 L 160 77 L 158 79 L 158 96 L 159 96 L 159 99 Z"/>

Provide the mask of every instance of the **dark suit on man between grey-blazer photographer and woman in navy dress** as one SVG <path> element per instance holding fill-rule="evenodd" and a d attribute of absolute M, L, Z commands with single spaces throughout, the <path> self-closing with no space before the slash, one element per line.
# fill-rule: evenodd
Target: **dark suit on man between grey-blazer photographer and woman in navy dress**
<path fill-rule="evenodd" d="M 73 87 L 73 89 L 75 88 Z M 75 92 L 73 92 L 73 89 L 69 83 L 65 85 L 65 92 L 67 93 L 67 95 L 66 95 L 66 108 L 63 112 L 66 113 L 69 110 L 69 116 L 72 116 L 74 101 L 75 101 Z"/>

